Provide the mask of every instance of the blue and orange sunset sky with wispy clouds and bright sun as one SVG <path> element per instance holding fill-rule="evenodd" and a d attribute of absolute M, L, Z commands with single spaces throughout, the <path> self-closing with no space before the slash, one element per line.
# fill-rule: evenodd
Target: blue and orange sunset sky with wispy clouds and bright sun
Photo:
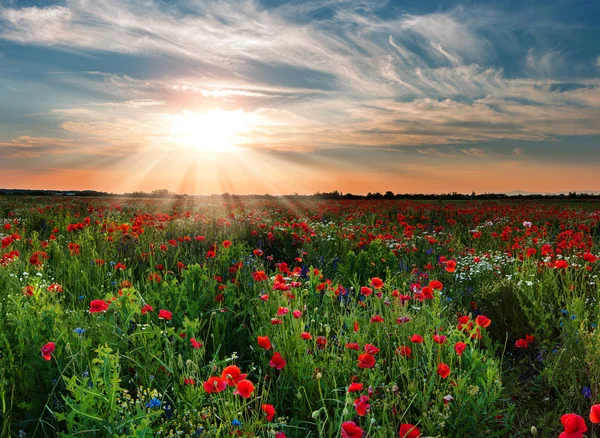
<path fill-rule="evenodd" d="M 0 187 L 600 191 L 597 0 L 0 0 Z"/>

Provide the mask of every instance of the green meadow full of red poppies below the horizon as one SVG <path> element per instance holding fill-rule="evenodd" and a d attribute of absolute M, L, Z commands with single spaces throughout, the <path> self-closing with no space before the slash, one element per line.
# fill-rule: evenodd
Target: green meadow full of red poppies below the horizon
<path fill-rule="evenodd" d="M 5 197 L 0 238 L 3 437 L 600 433 L 599 203 Z"/>

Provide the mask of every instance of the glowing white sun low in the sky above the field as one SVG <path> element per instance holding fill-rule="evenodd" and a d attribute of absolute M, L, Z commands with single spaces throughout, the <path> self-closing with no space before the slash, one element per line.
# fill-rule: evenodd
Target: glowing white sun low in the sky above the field
<path fill-rule="evenodd" d="M 205 113 L 185 110 L 170 116 L 170 139 L 201 152 L 239 150 L 241 134 L 252 128 L 252 117 L 243 109 L 213 109 Z"/>

